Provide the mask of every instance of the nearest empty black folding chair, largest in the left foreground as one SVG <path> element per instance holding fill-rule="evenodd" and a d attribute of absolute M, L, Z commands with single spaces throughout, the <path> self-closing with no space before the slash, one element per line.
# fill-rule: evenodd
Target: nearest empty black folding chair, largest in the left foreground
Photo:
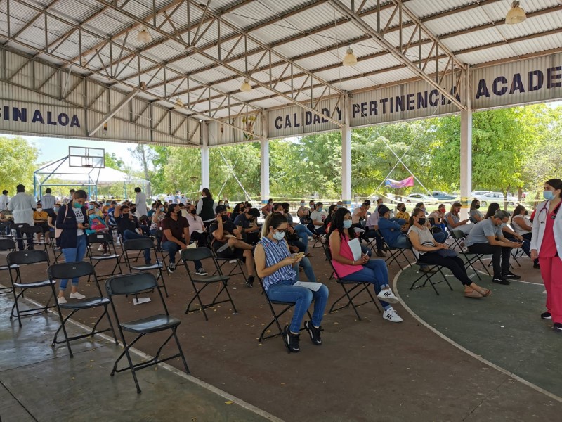
<path fill-rule="evenodd" d="M 111 376 L 114 376 L 116 372 L 123 372 L 127 370 L 131 370 L 133 374 L 133 379 L 136 385 L 136 392 L 141 392 L 141 387 L 138 385 L 138 379 L 136 378 L 136 371 L 143 368 L 148 368 L 148 366 L 159 364 L 160 362 L 166 362 L 170 359 L 176 359 L 176 357 L 181 357 L 183 362 L 183 366 L 185 367 L 185 372 L 190 373 L 188 369 L 188 363 L 185 362 L 185 357 L 183 356 L 183 350 L 181 350 L 181 345 L 178 340 L 178 336 L 176 335 L 176 330 L 180 325 L 180 320 L 171 316 L 168 312 L 168 308 L 166 307 L 166 302 L 164 301 L 164 297 L 162 296 L 162 290 L 160 290 L 160 286 L 158 285 L 157 278 L 154 274 L 149 272 L 141 272 L 136 274 L 122 274 L 120 276 L 111 277 L 105 281 L 105 289 L 107 290 L 107 294 L 111 300 L 111 307 L 113 309 L 113 313 L 115 314 L 115 319 L 117 321 L 117 326 L 119 327 L 119 333 L 121 335 L 123 345 L 125 350 L 122 354 L 117 357 L 115 364 L 113 365 L 113 369 L 111 371 Z M 158 290 L 158 295 L 162 302 L 162 307 L 164 313 L 161 314 L 150 314 L 148 316 L 144 316 L 140 319 L 136 319 L 134 321 L 127 321 L 122 322 L 119 318 L 119 306 L 115 303 L 115 296 L 117 295 L 136 295 L 146 290 Z M 144 307 L 141 309 L 152 309 L 152 307 Z M 171 331 L 170 335 L 164 343 L 159 347 L 155 357 L 148 361 L 140 362 L 138 364 L 133 364 L 133 360 L 131 359 L 131 354 L 129 349 L 133 347 L 133 345 L 143 338 L 147 334 L 152 333 L 159 333 L 160 331 Z M 125 333 L 133 333 L 136 335 L 136 338 L 131 341 L 131 343 L 127 343 L 125 338 Z M 178 346 L 178 353 L 174 354 L 174 356 L 160 358 L 160 353 L 166 344 L 168 344 L 169 340 L 174 337 L 176 340 L 176 345 Z M 122 357 L 126 356 L 129 365 L 122 368 L 117 369 L 117 364 L 122 359 Z"/>

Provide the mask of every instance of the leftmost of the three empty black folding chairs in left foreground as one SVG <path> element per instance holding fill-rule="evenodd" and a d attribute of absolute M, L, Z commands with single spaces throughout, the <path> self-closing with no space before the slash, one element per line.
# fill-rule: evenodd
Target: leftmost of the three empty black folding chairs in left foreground
<path fill-rule="evenodd" d="M 24 265 L 32 265 L 32 264 L 39 264 L 43 263 L 45 267 L 48 267 L 48 255 L 47 252 L 44 250 L 18 250 L 17 252 L 10 252 L 8 253 L 8 257 L 6 257 L 6 262 L 8 263 L 8 271 L 10 272 L 10 281 L 12 282 L 12 291 L 13 291 L 13 300 L 14 304 L 12 306 L 12 312 L 10 313 L 10 319 L 13 319 L 14 316 L 18 317 L 18 323 L 22 326 L 22 316 L 30 316 L 30 315 L 37 315 L 41 314 L 42 312 L 47 313 L 49 308 L 56 307 L 56 300 L 55 295 L 53 294 L 51 298 L 48 299 L 46 305 L 44 307 L 37 307 L 32 309 L 23 309 L 20 310 L 20 306 L 18 301 L 20 298 L 23 297 L 26 290 L 32 288 L 44 288 L 49 287 L 51 284 L 55 283 L 52 280 L 45 280 L 41 279 L 37 276 L 37 274 L 45 274 L 42 271 L 35 269 L 32 271 L 34 276 L 33 280 L 30 281 L 30 277 L 25 277 L 25 281 L 22 279 L 22 275 L 20 273 L 20 269 Z M 15 289 L 20 289 L 19 293 L 15 293 Z M 53 290 L 54 291 L 54 290 Z M 50 305 L 51 300 L 55 300 L 55 305 Z M 16 313 L 14 313 L 14 310 Z"/>

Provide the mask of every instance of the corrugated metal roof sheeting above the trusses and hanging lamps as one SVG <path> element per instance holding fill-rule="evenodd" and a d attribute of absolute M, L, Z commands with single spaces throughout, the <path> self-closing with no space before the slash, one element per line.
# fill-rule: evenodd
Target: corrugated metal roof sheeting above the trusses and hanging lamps
<path fill-rule="evenodd" d="M 86 56 L 86 60 L 91 59 L 89 71 L 100 72 L 93 77 L 115 83 L 113 77 L 104 77 L 105 70 L 102 69 L 103 65 L 109 65 L 113 60 L 112 70 L 115 72 L 117 63 L 120 62 L 119 72 L 122 72 L 119 79 L 122 80 L 125 88 L 127 85 L 138 83 L 137 60 L 126 64 L 131 54 L 139 54 L 141 72 L 143 72 L 141 80 L 145 82 L 156 75 L 159 65 L 166 65 L 169 68 L 166 71 L 166 78 L 171 80 L 164 80 L 163 72 L 159 72 L 152 79 L 154 94 L 158 96 L 163 96 L 164 91 L 168 94 L 174 91 L 179 83 L 174 79 L 189 74 L 193 78 L 190 82 L 190 89 L 192 89 L 190 97 L 200 93 L 197 89 L 197 81 L 199 81 L 232 95 L 231 101 L 246 101 L 253 106 L 267 108 L 289 103 L 287 98 L 278 93 L 290 94 L 291 89 L 298 90 L 306 79 L 306 76 L 303 76 L 304 72 L 313 74 L 315 83 L 313 96 L 320 95 L 324 91 L 325 85 L 320 79 L 331 84 L 334 90 L 354 91 L 417 76 L 416 72 L 404 66 L 403 60 L 396 54 L 385 53 L 387 47 L 377 40 L 377 36 L 365 32 L 360 25 L 346 18 L 331 1 L 213 0 L 209 7 L 210 15 L 200 26 L 198 23 L 202 18 L 204 2 L 199 6 L 192 4 L 190 23 L 188 23 L 187 3 L 181 4 L 176 10 L 177 0 L 157 0 L 155 1 L 157 11 L 166 8 L 166 13 L 159 12 L 155 18 L 159 29 L 152 27 L 152 0 L 130 0 L 124 6 L 124 13 L 116 10 L 116 6 L 106 6 L 94 0 L 58 0 L 53 4 L 51 2 L 52 0 L 29 0 L 24 4 L 21 1 L 12 1 L 9 35 L 18 34 L 26 23 L 37 15 L 38 10 L 47 8 L 47 39 L 51 49 L 60 44 L 62 37 L 65 35 L 67 37 L 52 55 L 39 53 L 39 57 L 64 65 L 64 60 L 74 60 L 79 56 L 80 51 L 84 52 L 96 47 L 99 57 L 96 55 L 92 58 L 91 53 Z M 355 1 L 355 6 L 360 3 Z M 348 1 L 342 1 L 341 4 L 350 5 Z M 518 25 L 504 24 L 509 1 L 410 0 L 403 1 L 403 6 L 424 22 L 426 29 L 433 36 L 438 37 L 443 46 L 455 53 L 460 63 L 482 65 L 562 48 L 562 4 L 559 0 L 522 0 L 521 6 L 527 11 L 528 19 Z M 393 15 L 384 39 L 393 46 L 399 47 L 400 23 L 399 14 L 393 13 L 395 7 L 389 1 L 381 2 L 380 21 L 384 28 L 387 20 Z M 376 8 L 377 0 L 367 0 L 363 10 L 360 11 L 362 23 L 370 25 L 375 31 L 379 18 Z M 171 14 L 175 10 L 176 12 Z M 218 20 L 213 19 L 213 15 L 219 15 L 221 20 L 220 33 L 223 39 L 220 46 L 221 60 L 224 60 L 230 52 L 226 63 L 220 63 L 218 60 Z M 152 37 L 148 43 L 137 40 L 138 32 L 141 30 L 138 26 L 138 18 L 148 21 L 147 27 Z M 6 2 L 0 2 L 0 20 L 2 22 L 7 20 Z M 81 23 L 84 23 L 84 31 L 81 33 L 80 48 L 78 31 L 73 30 L 73 27 Z M 36 54 L 37 49 L 45 47 L 44 25 L 44 18 L 35 20 L 18 34 L 16 40 L 18 43 L 10 43 L 8 40 L 7 46 L 25 53 Z M 407 17 L 407 13 L 403 13 L 402 25 L 403 44 L 406 44 L 413 34 L 412 45 L 406 57 L 417 63 L 418 34 L 413 32 L 414 24 L 412 19 Z M 124 42 L 124 32 L 131 27 L 134 29 L 130 30 L 126 37 L 126 48 L 130 51 L 124 51 L 122 59 L 118 60 L 119 48 L 114 45 L 110 51 L 109 45 L 103 43 L 110 37 L 117 44 Z M 240 39 L 243 30 L 249 30 L 246 40 Z M 188 39 L 194 39 L 196 33 L 200 37 L 196 49 L 186 51 L 185 44 L 188 44 Z M 6 37 L 6 25 L 0 28 L 0 34 Z M 179 34 L 183 38 L 180 38 Z M 244 57 L 245 44 L 249 51 L 248 63 Z M 267 53 L 259 61 L 266 51 L 260 44 L 271 46 L 271 56 L 275 63 L 271 70 L 267 68 L 269 57 Z M 358 65 L 353 68 L 341 66 L 341 60 L 348 46 L 351 46 L 359 58 Z M 429 35 L 422 34 L 423 60 L 431 51 L 431 46 Z M 197 49 L 204 54 L 198 53 Z M 275 90 L 259 87 L 255 82 L 251 82 L 254 86 L 251 92 L 240 92 L 240 84 L 244 80 L 240 72 L 246 72 L 246 68 L 251 71 L 259 63 L 258 70 L 253 75 L 249 75 L 250 79 L 267 84 L 271 77 L 275 82 L 285 70 L 287 59 L 294 60 L 296 76 L 293 78 L 293 87 L 287 70 L 283 74 L 284 79 L 277 83 Z M 79 60 L 75 60 L 74 63 L 78 64 Z M 440 70 L 445 68 L 445 63 L 447 63 L 446 58 L 440 60 Z M 434 60 L 429 60 L 426 73 L 434 69 Z M 87 71 L 77 70 L 80 73 Z M 163 87 L 164 83 L 169 84 L 166 90 Z M 307 82 L 306 89 L 303 89 L 299 99 L 310 96 L 308 84 Z M 202 99 L 206 100 L 206 95 L 204 94 Z M 150 93 L 143 93 L 143 96 L 150 98 Z M 213 99 L 211 107 L 220 105 L 223 98 L 221 96 Z M 204 111 L 205 107 L 208 107 L 208 101 L 197 104 L 197 110 Z M 222 114 L 222 110 L 217 113 L 217 115 Z"/>

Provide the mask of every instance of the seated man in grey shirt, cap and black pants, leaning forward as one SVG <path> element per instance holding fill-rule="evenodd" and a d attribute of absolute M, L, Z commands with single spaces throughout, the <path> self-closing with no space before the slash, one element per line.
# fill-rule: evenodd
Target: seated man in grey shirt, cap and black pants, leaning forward
<path fill-rule="evenodd" d="M 469 252 L 492 255 L 492 265 L 494 266 L 492 281 L 506 285 L 510 283 L 510 279 L 521 279 L 521 276 L 509 271 L 511 248 L 521 248 L 521 243 L 510 242 L 504 238 L 502 226 L 507 224 L 508 219 L 509 214 L 499 210 L 491 217 L 473 224 L 473 229 L 464 241 Z"/>

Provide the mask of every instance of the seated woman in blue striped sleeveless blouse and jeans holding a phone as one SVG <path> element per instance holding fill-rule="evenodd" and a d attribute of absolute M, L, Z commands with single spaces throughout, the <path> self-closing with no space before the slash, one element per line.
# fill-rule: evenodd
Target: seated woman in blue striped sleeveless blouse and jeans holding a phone
<path fill-rule="evenodd" d="M 299 352 L 299 332 L 301 323 L 308 307 L 314 300 L 312 321 L 306 321 L 304 328 L 311 336 L 314 345 L 321 345 L 322 316 L 328 300 L 328 288 L 322 284 L 316 291 L 306 287 L 294 286 L 299 281 L 299 273 L 293 266 L 300 258 L 293 257 L 289 252 L 289 245 L 285 241 L 287 219 L 284 215 L 274 212 L 268 215 L 266 222 L 267 235 L 261 237 L 254 252 L 256 271 L 263 279 L 270 300 L 294 302 L 294 313 L 290 326 L 285 326 L 283 335 L 291 352 Z"/>

